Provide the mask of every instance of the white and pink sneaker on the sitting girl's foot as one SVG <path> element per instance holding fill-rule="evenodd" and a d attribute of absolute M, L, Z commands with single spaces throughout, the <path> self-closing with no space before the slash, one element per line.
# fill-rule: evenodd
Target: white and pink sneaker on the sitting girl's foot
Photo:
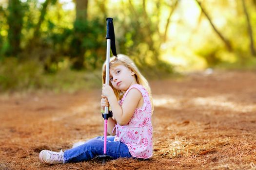
<path fill-rule="evenodd" d="M 39 153 L 39 159 L 42 163 L 46 164 L 63 164 L 63 152 L 60 150 L 59 153 L 52 152 L 49 150 L 42 150 Z"/>

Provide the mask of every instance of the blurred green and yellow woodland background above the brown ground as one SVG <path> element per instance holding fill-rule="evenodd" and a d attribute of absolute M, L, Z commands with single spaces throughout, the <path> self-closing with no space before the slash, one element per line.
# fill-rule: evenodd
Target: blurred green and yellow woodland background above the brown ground
<path fill-rule="evenodd" d="M 100 87 L 106 17 L 147 78 L 256 67 L 256 0 L 0 0 L 0 92 Z"/>

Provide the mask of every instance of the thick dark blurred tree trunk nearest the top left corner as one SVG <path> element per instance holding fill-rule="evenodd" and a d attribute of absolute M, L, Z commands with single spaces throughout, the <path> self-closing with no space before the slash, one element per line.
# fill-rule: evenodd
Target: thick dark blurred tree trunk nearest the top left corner
<path fill-rule="evenodd" d="M 20 0 L 9 0 L 8 12 L 7 23 L 9 30 L 7 39 L 9 47 L 5 54 L 7 56 L 17 56 L 20 52 L 21 29 L 23 25 L 23 8 Z"/>

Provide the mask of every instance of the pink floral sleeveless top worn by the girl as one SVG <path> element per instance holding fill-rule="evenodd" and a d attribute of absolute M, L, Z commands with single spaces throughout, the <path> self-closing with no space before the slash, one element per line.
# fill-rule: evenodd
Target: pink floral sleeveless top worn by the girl
<path fill-rule="evenodd" d="M 130 89 L 138 89 L 143 96 L 143 106 L 136 108 L 133 117 L 127 125 L 120 126 L 118 123 L 116 128 L 116 136 L 114 141 L 124 143 L 133 157 L 150 158 L 153 154 L 152 140 L 152 124 L 151 124 L 151 102 L 147 90 L 142 85 L 131 85 L 123 95 L 123 98 L 118 101 L 122 105 L 127 93 Z M 113 131 L 114 131 L 113 129 Z"/>

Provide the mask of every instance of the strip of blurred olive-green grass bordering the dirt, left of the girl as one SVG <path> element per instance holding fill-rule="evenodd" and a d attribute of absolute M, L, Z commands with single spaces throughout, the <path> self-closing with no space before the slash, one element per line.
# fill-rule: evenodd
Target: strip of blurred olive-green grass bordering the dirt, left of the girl
<path fill-rule="evenodd" d="M 101 71 L 97 70 L 72 71 L 63 67 L 55 74 L 43 72 L 39 61 L 21 62 L 17 58 L 8 57 L 0 63 L 0 92 L 35 90 L 75 92 L 79 89 L 101 86 Z"/>

